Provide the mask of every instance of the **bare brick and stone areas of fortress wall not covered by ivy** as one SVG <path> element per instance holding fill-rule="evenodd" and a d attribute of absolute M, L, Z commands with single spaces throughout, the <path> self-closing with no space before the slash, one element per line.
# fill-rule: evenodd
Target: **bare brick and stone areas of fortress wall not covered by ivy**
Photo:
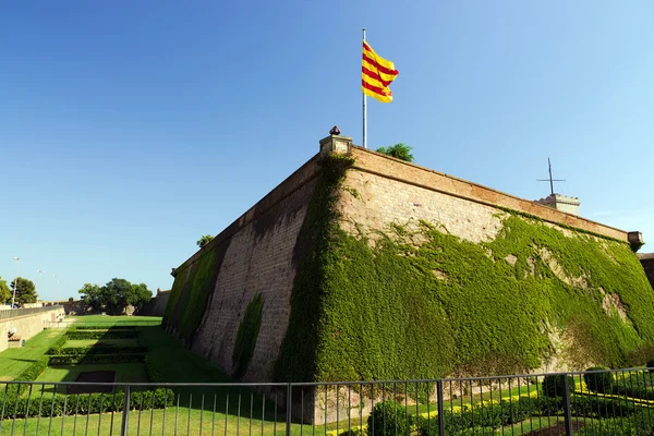
<path fill-rule="evenodd" d="M 462 239 L 481 242 L 494 238 L 502 214 L 511 209 L 537 217 L 562 232 L 574 228 L 629 240 L 626 231 L 353 146 L 348 137 L 329 136 L 320 143 L 320 153 L 177 268 L 186 274 L 175 277 L 173 292 L 178 282 L 183 284 L 189 279 L 189 271 L 203 254 L 215 252 L 218 257 L 206 307 L 196 308 L 204 311 L 202 322 L 187 346 L 229 374 L 234 372 L 232 352 L 239 323 L 253 298 L 263 295 L 256 347 L 242 377 L 246 382 L 272 377 L 289 325 L 293 280 L 303 255 L 299 240 L 320 155 L 344 153 L 354 158 L 336 205 L 346 230 L 366 231 L 392 222 L 425 220 L 438 222 Z M 169 310 L 174 311 L 179 298 L 168 301 Z M 177 335 L 179 327 L 179 318 L 168 319 L 168 331 Z"/>

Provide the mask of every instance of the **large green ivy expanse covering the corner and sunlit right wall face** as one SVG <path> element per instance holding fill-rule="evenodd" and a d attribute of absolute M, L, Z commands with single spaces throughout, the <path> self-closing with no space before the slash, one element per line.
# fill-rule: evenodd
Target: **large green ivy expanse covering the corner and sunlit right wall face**
<path fill-rule="evenodd" d="M 617 367 L 651 350 L 654 295 L 628 244 L 501 210 L 482 244 L 437 222 L 349 234 L 334 210 L 350 195 L 340 164 L 324 162 L 310 205 L 277 379 L 511 374 L 554 353 Z"/>

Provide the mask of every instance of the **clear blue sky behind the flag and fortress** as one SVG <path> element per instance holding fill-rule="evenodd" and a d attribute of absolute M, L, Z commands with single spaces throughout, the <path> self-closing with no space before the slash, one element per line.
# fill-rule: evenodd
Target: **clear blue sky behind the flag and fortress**
<path fill-rule="evenodd" d="M 46 299 L 169 289 L 334 124 L 361 144 L 364 26 L 400 71 L 371 148 L 529 199 L 550 157 L 582 216 L 654 251 L 653 22 L 651 1 L 4 1 L 0 276 L 20 256 Z"/>

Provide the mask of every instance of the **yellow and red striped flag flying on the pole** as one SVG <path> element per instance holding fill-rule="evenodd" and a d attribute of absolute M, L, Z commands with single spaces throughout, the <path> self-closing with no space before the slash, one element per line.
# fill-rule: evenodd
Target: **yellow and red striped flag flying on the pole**
<path fill-rule="evenodd" d="M 398 76 L 395 64 L 380 56 L 367 43 L 363 41 L 363 62 L 361 65 L 361 89 L 363 94 L 382 102 L 391 102 L 392 93 L 388 85 Z"/>

